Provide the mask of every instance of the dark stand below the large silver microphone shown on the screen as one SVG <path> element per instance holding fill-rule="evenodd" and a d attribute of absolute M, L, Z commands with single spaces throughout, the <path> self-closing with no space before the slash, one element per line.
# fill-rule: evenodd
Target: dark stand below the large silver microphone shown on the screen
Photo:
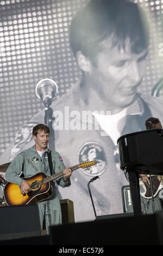
<path fill-rule="evenodd" d="M 53 110 L 49 106 L 45 106 L 45 117 L 44 117 L 44 123 L 46 126 L 50 129 L 50 136 L 49 136 L 49 148 L 51 150 L 55 150 L 55 134 L 53 129 L 53 121 L 55 120 L 55 117 L 53 117 Z"/>

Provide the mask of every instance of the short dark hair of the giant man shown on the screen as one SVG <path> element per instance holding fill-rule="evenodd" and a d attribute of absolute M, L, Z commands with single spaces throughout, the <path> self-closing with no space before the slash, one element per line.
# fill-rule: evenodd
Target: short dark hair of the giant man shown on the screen
<path fill-rule="evenodd" d="M 129 0 L 91 0 L 70 25 L 70 45 L 74 56 L 81 51 L 93 61 L 103 49 L 100 43 L 109 37 L 112 47 L 124 49 L 129 39 L 132 53 L 146 50 L 149 34 L 145 16 L 139 5 Z"/>

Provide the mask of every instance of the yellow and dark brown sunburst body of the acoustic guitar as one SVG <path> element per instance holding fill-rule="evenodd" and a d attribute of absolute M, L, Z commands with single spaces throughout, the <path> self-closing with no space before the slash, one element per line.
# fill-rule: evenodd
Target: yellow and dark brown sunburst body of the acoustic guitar
<path fill-rule="evenodd" d="M 37 204 L 39 201 L 43 201 L 51 197 L 53 188 L 50 182 L 46 182 L 42 185 L 38 181 L 47 178 L 44 172 L 24 178 L 31 188 L 28 194 L 22 194 L 20 187 L 14 183 L 7 183 L 4 189 L 4 199 L 7 205 L 27 205 Z"/>

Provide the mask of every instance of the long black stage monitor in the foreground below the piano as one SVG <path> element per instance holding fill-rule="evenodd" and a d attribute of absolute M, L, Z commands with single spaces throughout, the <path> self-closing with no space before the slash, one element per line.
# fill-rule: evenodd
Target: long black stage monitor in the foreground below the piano
<path fill-rule="evenodd" d="M 163 245 L 163 216 L 142 215 L 52 226 L 51 245 Z"/>

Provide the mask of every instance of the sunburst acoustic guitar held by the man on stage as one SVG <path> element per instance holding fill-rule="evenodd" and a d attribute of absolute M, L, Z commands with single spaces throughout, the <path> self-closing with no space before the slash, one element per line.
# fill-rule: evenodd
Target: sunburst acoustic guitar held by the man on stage
<path fill-rule="evenodd" d="M 96 165 L 97 161 L 91 161 L 86 163 L 77 164 L 71 167 L 71 170 L 77 170 L 78 168 L 88 168 Z M 13 205 L 27 205 L 37 204 L 40 201 L 47 200 L 53 193 L 51 181 L 58 177 L 64 176 L 64 172 L 60 171 L 52 176 L 47 176 L 44 172 L 39 172 L 31 177 L 23 178 L 30 186 L 30 192 L 22 194 L 20 187 L 17 184 L 8 182 L 4 187 L 4 199 L 8 206 Z"/>

